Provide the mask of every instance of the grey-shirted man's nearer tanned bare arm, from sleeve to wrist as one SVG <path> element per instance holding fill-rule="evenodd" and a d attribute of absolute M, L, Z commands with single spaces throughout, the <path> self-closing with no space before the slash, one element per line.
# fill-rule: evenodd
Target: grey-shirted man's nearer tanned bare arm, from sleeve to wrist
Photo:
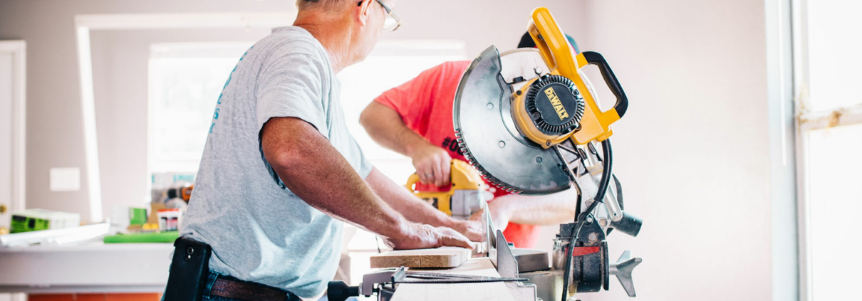
<path fill-rule="evenodd" d="M 383 237 L 403 236 L 407 220 L 365 185 L 314 126 L 274 118 L 262 130 L 261 146 L 284 186 L 309 206 Z"/>

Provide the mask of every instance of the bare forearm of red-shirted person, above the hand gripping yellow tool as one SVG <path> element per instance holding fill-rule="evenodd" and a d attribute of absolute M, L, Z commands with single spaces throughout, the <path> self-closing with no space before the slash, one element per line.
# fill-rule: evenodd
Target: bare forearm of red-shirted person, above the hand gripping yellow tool
<path fill-rule="evenodd" d="M 407 157 L 412 157 L 416 149 L 430 145 L 428 140 L 404 125 L 401 115 L 395 110 L 376 101 L 362 111 L 359 124 L 365 127 L 365 132 L 374 142 Z"/>

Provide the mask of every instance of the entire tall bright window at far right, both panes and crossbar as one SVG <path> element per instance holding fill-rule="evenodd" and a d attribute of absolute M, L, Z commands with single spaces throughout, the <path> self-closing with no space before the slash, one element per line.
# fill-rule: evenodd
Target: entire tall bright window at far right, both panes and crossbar
<path fill-rule="evenodd" d="M 858 298 L 862 249 L 862 2 L 795 0 L 803 300 Z"/>

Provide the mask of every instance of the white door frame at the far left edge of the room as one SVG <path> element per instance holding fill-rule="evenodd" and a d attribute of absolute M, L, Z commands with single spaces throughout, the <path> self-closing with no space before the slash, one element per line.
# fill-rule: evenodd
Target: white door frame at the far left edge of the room
<path fill-rule="evenodd" d="M 27 200 L 27 43 L 0 40 L 0 53 L 12 54 L 12 204 L 9 211 L 24 210 Z"/>

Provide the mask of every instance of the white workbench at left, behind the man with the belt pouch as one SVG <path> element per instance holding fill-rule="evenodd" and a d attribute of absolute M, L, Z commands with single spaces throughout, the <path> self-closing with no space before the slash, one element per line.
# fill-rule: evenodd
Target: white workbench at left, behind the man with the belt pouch
<path fill-rule="evenodd" d="M 172 251 L 102 242 L 0 249 L 0 292 L 164 292 Z"/>

